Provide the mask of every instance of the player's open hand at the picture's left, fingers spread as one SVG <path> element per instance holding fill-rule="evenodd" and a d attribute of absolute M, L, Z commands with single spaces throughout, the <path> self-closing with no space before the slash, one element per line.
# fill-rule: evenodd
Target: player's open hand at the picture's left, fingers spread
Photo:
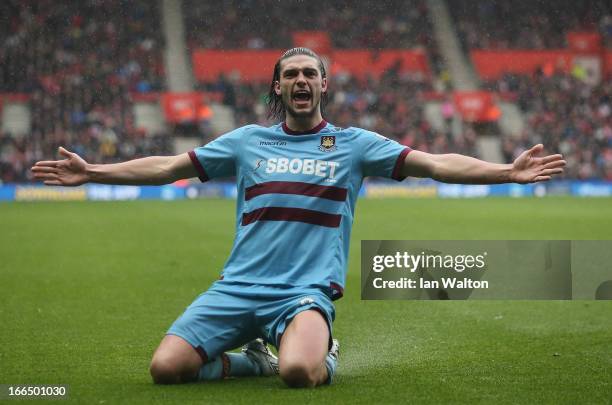
<path fill-rule="evenodd" d="M 34 178 L 48 186 L 80 186 L 87 183 L 87 162 L 61 146 L 58 151 L 66 159 L 36 162 L 32 167 Z"/>

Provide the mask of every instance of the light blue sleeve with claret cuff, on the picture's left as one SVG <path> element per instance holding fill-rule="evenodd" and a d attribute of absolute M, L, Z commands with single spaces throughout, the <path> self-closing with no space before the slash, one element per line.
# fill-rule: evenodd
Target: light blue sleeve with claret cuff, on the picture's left
<path fill-rule="evenodd" d="M 243 132 L 244 128 L 238 128 L 188 152 L 202 182 L 236 175 L 238 147 Z"/>

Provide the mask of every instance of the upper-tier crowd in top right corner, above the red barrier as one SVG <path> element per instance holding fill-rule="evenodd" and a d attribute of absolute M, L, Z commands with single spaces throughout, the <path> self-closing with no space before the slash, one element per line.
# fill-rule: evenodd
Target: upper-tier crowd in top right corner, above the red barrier
<path fill-rule="evenodd" d="M 612 47 L 607 0 L 447 0 L 465 49 L 560 49 L 568 31 L 598 31 Z"/>

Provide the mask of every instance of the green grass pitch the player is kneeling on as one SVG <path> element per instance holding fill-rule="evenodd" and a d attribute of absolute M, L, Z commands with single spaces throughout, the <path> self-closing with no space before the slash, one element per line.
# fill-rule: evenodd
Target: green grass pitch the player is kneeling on
<path fill-rule="evenodd" d="M 154 386 L 151 354 L 217 278 L 233 221 L 224 200 L 0 204 L 0 384 L 89 404 L 612 400 L 611 301 L 359 298 L 361 239 L 612 239 L 610 199 L 362 200 L 332 386 Z"/>

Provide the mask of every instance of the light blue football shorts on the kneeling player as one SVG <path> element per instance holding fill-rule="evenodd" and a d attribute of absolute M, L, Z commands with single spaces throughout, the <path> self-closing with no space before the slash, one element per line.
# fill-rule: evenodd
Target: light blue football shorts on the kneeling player
<path fill-rule="evenodd" d="M 167 334 L 185 339 L 206 361 L 258 337 L 278 348 L 291 320 L 309 309 L 323 315 L 331 341 L 335 308 L 321 290 L 219 280 L 187 307 Z"/>

